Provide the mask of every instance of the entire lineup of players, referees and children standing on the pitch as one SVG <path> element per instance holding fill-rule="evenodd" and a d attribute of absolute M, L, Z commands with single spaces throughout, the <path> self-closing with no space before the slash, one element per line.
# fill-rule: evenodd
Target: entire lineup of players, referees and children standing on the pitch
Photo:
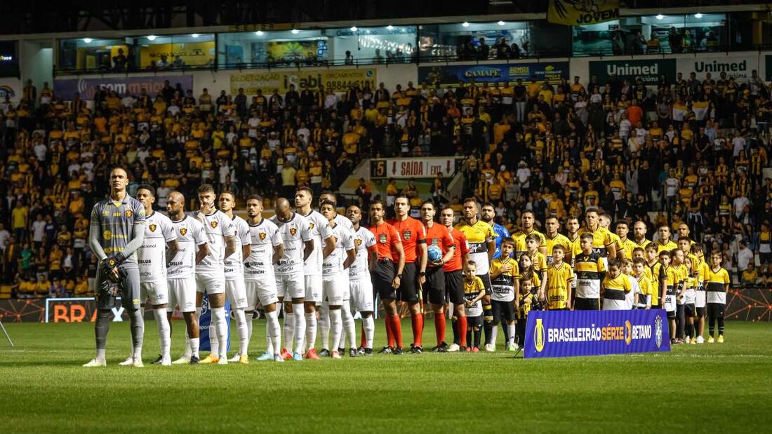
<path fill-rule="evenodd" d="M 586 227 L 580 229 L 575 218 L 568 220 L 569 238 L 557 234 L 554 218 L 547 219 L 546 235 L 540 234 L 533 228 L 533 214 L 526 212 L 522 230 L 510 237 L 493 222 L 492 205 L 483 205 L 478 218 L 478 204 L 466 200 L 454 227 L 453 210 L 440 210 L 436 223 L 431 202 L 422 205 L 421 220 L 408 217 L 407 197 L 394 201 L 396 217 L 388 222 L 384 204 L 373 202 L 371 226 L 363 227 L 361 209 L 351 206 L 345 217 L 337 214 L 332 194 L 323 193 L 319 211 L 313 210 L 313 193 L 306 187 L 296 191 L 294 210 L 289 200 L 277 200 L 276 215 L 270 219 L 262 217 L 261 197 L 249 197 L 247 218 L 242 219 L 233 214 L 232 193 L 218 197 L 209 185 L 198 189 L 197 213 L 186 215 L 185 197 L 174 192 L 165 216 L 153 211 L 152 187 L 140 187 L 137 199 L 127 195 L 124 170 L 113 170 L 110 183 L 110 199 L 95 205 L 91 216 L 90 247 L 101 265 L 97 356 L 85 366 L 106 365 L 110 309 L 119 295 L 130 315 L 132 335 L 132 354 L 122 364 L 135 366 L 142 365 L 145 301 L 157 320 L 161 355 L 155 363 L 161 365 L 172 363 L 169 319 L 174 308 L 186 321 L 185 353 L 174 363 L 229 362 L 226 298 L 239 335 L 239 352 L 230 361 L 241 363 L 249 363 L 258 301 L 267 321 L 266 351 L 258 359 L 276 362 L 340 358 L 346 338 L 350 356 L 371 355 L 376 297 L 386 314 L 387 345 L 382 353 L 403 352 L 398 301 L 411 314 L 412 353 L 423 351 L 424 304 L 431 306 L 435 318 L 435 352 L 479 351 L 481 328 L 486 331 L 486 350 L 495 351 L 499 323 L 507 349 L 514 350 L 516 341 L 522 345 L 531 308 L 598 309 L 600 300 L 604 309 L 663 306 L 672 319 L 671 335 L 676 335 L 675 328 L 686 328 L 688 318 L 687 339 L 695 342 L 702 341 L 707 304 L 711 335 L 717 318 L 723 341 L 722 306 L 729 279 L 720 268 L 720 257 L 708 267 L 699 245 L 692 246 L 688 237 L 673 243 L 668 227 L 660 228 L 660 241 L 651 242 L 645 240 L 645 226 L 639 237 L 635 224 L 635 240 L 628 240 L 620 223 L 622 240 L 607 229 L 608 218 L 590 209 Z M 200 359 L 198 316 L 204 293 L 212 312 L 212 351 Z M 449 306 L 452 345 L 445 344 Z M 352 311 L 362 318 L 358 348 Z M 322 335 L 319 354 L 317 328 Z"/>

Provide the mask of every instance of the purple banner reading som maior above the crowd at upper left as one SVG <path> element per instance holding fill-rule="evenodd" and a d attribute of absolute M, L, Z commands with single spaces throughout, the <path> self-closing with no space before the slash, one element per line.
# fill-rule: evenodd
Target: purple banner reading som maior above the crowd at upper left
<path fill-rule="evenodd" d="M 53 91 L 63 99 L 73 99 L 75 93 L 80 93 L 80 99 L 93 99 L 100 86 L 114 90 L 123 98 L 125 93 L 138 96 L 142 89 L 147 95 L 155 98 L 164 89 L 164 81 L 175 87 L 179 83 L 182 89 L 193 89 L 193 76 L 119 76 L 119 77 L 80 77 L 77 79 L 54 79 Z"/>

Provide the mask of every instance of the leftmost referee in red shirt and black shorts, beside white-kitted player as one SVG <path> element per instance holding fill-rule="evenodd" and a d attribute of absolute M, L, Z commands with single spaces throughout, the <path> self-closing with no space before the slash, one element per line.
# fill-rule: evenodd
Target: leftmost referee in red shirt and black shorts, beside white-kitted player
<path fill-rule="evenodd" d="M 379 354 L 402 354 L 402 328 L 397 311 L 397 288 L 405 271 L 405 251 L 399 232 L 384 217 L 386 209 L 383 202 L 374 200 L 370 204 L 372 226 L 369 228 L 378 246 L 378 264 L 371 272 L 373 289 L 378 293 L 386 311 L 386 346 Z M 394 261 L 394 256 L 397 261 Z M 394 265 L 396 264 L 396 266 Z"/>

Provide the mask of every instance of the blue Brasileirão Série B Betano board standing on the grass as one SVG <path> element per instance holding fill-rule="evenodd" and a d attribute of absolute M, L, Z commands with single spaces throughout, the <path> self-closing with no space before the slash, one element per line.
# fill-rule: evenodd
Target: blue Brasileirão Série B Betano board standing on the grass
<path fill-rule="evenodd" d="M 635 311 L 531 311 L 525 358 L 669 352 L 667 314 Z"/>

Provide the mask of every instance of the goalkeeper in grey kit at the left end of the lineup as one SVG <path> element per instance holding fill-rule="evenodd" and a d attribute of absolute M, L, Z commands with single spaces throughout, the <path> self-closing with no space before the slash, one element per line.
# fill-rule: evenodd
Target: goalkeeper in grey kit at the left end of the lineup
<path fill-rule="evenodd" d="M 141 247 L 144 238 L 145 212 L 144 206 L 126 192 L 128 184 L 126 170 L 113 169 L 110 172 L 110 197 L 91 210 L 89 245 L 99 258 L 100 266 L 94 288 L 97 293 L 97 356 L 83 365 L 87 368 L 107 365 L 107 332 L 118 296 L 129 314 L 134 366 L 142 366 L 140 274 L 134 251 Z"/>

